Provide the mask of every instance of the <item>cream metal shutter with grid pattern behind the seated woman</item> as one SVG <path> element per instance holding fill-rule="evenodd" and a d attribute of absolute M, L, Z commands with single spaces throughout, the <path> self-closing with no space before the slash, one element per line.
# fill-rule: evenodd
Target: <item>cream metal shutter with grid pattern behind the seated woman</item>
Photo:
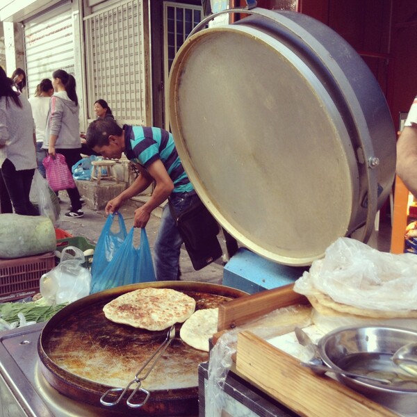
<path fill-rule="evenodd" d="M 147 1 L 121 1 L 84 18 L 89 119 L 101 98 L 119 122 L 150 122 L 146 7 Z"/>

